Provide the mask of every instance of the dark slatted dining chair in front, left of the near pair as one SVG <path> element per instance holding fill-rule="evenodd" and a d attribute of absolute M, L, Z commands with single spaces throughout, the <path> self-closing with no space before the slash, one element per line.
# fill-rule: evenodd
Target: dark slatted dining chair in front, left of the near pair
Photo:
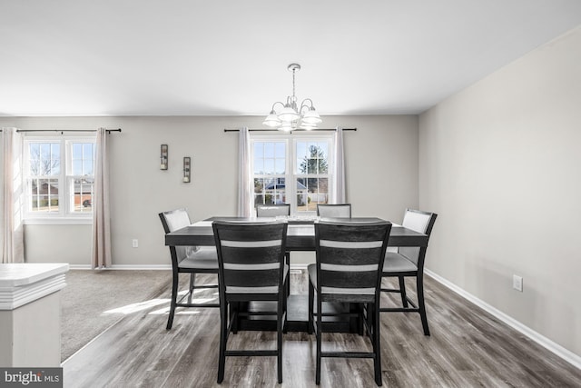
<path fill-rule="evenodd" d="M 282 383 L 282 333 L 286 321 L 286 285 L 289 267 L 285 264 L 287 224 L 271 222 L 214 221 L 218 251 L 220 294 L 220 354 L 218 383 L 224 379 L 228 356 L 276 356 L 278 383 Z M 241 310 L 241 303 L 271 301 L 276 311 Z M 276 350 L 227 350 L 231 332 L 239 330 L 239 317 L 274 315 L 277 319 Z"/>

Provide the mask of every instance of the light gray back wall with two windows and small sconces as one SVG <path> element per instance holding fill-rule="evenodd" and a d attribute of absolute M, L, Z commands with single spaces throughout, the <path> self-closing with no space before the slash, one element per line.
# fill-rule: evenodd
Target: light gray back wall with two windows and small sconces
<path fill-rule="evenodd" d="M 110 134 L 113 264 L 167 265 L 158 213 L 185 206 L 192 219 L 236 214 L 238 134 L 261 128 L 263 117 L 36 117 L 0 118 L 22 129 L 123 128 Z M 401 222 L 418 205 L 418 117 L 332 116 L 324 127 L 346 131 L 347 195 L 354 215 Z M 160 144 L 169 144 L 169 170 L 159 169 Z M 192 157 L 192 183 L 182 184 L 182 157 Z M 132 239 L 139 247 L 132 247 Z M 25 227 L 30 263 L 90 264 L 91 225 Z"/>

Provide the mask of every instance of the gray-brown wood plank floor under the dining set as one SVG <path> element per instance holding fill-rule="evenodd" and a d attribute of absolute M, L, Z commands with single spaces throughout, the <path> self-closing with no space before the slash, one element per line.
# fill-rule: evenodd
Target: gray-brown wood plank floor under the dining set
<path fill-rule="evenodd" d="M 291 274 L 291 293 L 306 293 L 306 276 Z M 383 385 L 392 387 L 580 387 L 581 370 L 528 340 L 495 317 L 427 278 L 428 322 L 419 315 L 381 314 Z M 412 284 L 409 284 L 412 290 Z M 413 296 L 413 294 L 412 294 Z M 169 297 L 168 293 L 161 297 Z M 392 301 L 385 296 L 382 305 Z M 275 357 L 229 357 L 216 383 L 218 309 L 188 309 L 165 330 L 164 306 L 127 314 L 64 363 L 65 387 L 277 386 Z M 270 348 L 275 333 L 240 332 L 231 347 Z M 314 387 L 315 340 L 287 333 L 283 387 Z M 230 346 L 229 346 L 230 347 Z M 365 337 L 323 336 L 323 350 L 369 349 Z M 323 359 L 321 387 L 373 387 L 370 360 Z"/>

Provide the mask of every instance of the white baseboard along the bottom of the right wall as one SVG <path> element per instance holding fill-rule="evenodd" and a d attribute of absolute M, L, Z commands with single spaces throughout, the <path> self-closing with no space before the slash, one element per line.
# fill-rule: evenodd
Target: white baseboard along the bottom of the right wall
<path fill-rule="evenodd" d="M 523 323 L 518 322 L 516 319 L 512 318 L 511 316 L 507 315 L 506 313 L 497 310 L 495 307 L 491 306 L 490 304 L 478 299 L 471 293 L 466 292 L 465 290 L 458 287 L 458 285 L 450 283 L 447 279 L 441 277 L 438 274 L 434 274 L 433 272 L 424 269 L 424 273 L 436 280 L 438 283 L 445 285 L 450 290 L 458 295 L 462 296 L 463 298 L 467 299 L 469 302 L 476 304 L 482 310 L 486 311 L 487 313 L 491 313 L 495 317 L 497 317 L 503 323 L 507 323 L 508 326 L 512 327 L 513 329 L 517 330 L 517 332 L 526 335 L 528 338 L 533 340 L 534 342 L 538 343 L 539 345 L 546 348 L 548 351 L 555 353 L 557 356 L 561 357 L 567 363 L 571 363 L 576 368 L 581 369 L 581 356 L 573 353 L 563 346 L 549 340 L 546 336 L 535 332 L 528 326 L 524 325 Z"/>

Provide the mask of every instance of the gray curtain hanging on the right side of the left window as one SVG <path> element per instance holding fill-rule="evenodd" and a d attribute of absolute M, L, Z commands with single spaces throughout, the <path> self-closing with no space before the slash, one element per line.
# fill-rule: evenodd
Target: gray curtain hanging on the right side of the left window
<path fill-rule="evenodd" d="M 109 157 L 107 131 L 97 130 L 93 197 L 93 268 L 113 264 L 111 256 L 111 214 L 109 210 Z"/>

